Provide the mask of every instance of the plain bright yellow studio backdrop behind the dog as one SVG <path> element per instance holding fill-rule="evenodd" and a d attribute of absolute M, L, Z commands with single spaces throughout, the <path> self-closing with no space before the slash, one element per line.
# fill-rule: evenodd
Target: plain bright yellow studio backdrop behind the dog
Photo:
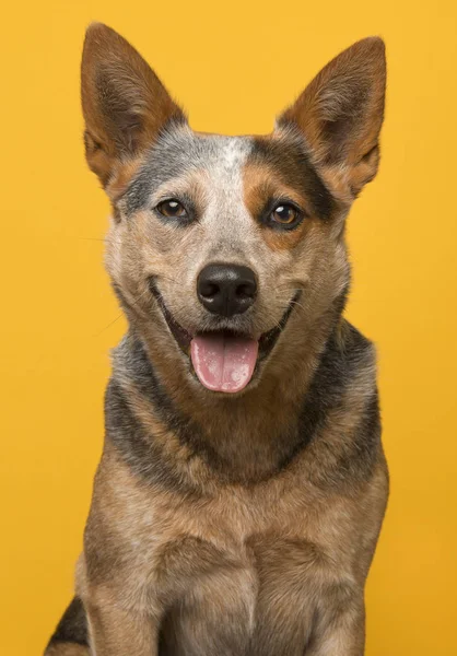
<path fill-rule="evenodd" d="M 72 594 L 108 349 L 125 328 L 102 267 L 108 203 L 83 160 L 79 65 L 92 20 L 138 47 L 196 129 L 227 133 L 269 131 L 339 50 L 385 37 L 382 167 L 350 219 L 348 315 L 378 344 L 391 472 L 367 655 L 457 654 L 456 19 L 453 0 L 3 7 L 2 654 L 40 654 Z"/>

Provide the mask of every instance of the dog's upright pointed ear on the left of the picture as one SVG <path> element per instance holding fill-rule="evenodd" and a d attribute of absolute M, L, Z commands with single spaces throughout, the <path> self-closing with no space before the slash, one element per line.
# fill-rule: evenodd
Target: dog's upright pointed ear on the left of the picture
<path fill-rule="evenodd" d="M 149 148 L 181 109 L 150 66 L 117 32 L 89 26 L 81 63 L 81 99 L 89 166 L 107 185 L 122 162 Z"/>

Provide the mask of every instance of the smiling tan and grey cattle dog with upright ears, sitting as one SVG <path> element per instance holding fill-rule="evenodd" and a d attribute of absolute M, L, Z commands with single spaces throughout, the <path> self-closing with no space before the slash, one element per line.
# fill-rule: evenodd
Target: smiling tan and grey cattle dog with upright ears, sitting
<path fill-rule="evenodd" d="M 132 46 L 89 27 L 85 153 L 129 329 L 46 656 L 364 653 L 388 470 L 375 350 L 342 316 L 344 225 L 385 86 L 368 37 L 270 134 L 196 132 Z"/>

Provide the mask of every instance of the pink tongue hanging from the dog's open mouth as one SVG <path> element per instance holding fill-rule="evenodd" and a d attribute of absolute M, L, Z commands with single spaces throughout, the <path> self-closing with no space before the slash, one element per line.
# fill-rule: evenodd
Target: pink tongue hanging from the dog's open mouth
<path fill-rule="evenodd" d="M 255 339 L 207 335 L 190 342 L 198 379 L 213 391 L 239 391 L 249 383 L 259 344 Z"/>

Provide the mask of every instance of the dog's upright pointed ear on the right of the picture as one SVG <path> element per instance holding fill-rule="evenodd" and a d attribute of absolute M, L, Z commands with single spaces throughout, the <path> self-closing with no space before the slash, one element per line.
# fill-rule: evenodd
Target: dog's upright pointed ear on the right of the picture
<path fill-rule="evenodd" d="M 355 197 L 377 172 L 385 87 L 384 42 L 364 38 L 332 59 L 277 125 L 298 127 L 317 167 Z"/>

